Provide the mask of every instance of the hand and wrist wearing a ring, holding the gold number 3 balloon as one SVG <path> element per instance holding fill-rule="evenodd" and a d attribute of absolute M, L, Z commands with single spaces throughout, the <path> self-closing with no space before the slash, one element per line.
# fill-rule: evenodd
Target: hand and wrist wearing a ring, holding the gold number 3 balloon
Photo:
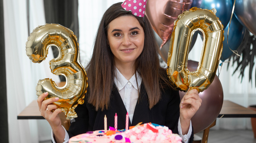
<path fill-rule="evenodd" d="M 65 130 L 61 125 L 61 120 L 59 118 L 59 113 L 61 109 L 57 109 L 57 106 L 53 104 L 59 100 L 58 97 L 49 98 L 44 100 L 48 95 L 48 92 L 41 94 L 38 99 L 38 107 L 41 115 L 49 122 L 53 129 L 54 138 L 56 142 L 64 142 Z"/>

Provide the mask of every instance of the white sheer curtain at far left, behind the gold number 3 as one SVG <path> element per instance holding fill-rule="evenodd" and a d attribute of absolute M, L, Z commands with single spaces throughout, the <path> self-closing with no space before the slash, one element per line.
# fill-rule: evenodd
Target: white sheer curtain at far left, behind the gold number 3
<path fill-rule="evenodd" d="M 39 79 L 52 78 L 59 82 L 49 69 L 49 60 L 32 63 L 25 51 L 28 33 L 45 24 L 43 1 L 29 1 L 30 28 L 27 22 L 26 0 L 4 0 L 5 56 L 8 103 L 8 127 L 10 143 L 35 143 L 50 138 L 50 126 L 46 120 L 17 120 L 17 115 L 37 99 L 35 86 Z M 48 133 L 46 134 L 47 131 Z"/>

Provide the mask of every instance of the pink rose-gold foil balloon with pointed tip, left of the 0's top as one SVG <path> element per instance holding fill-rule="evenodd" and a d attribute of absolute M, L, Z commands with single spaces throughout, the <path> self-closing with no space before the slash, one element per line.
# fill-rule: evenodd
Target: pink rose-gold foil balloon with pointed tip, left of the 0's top
<path fill-rule="evenodd" d="M 178 15 L 190 9 L 191 4 L 192 0 L 147 0 L 146 16 L 163 40 L 160 48 L 171 38 Z"/>

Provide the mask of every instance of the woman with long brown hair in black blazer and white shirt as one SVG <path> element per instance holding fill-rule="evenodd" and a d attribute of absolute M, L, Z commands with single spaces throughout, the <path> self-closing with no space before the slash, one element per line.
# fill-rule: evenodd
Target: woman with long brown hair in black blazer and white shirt
<path fill-rule="evenodd" d="M 41 115 L 50 123 L 56 142 L 87 131 L 104 129 L 104 116 L 118 129 L 139 122 L 153 122 L 179 133 L 183 141 L 193 141 L 190 119 L 202 100 L 196 89 L 187 92 L 180 103 L 179 91 L 168 80 L 166 69 L 160 67 L 158 46 L 147 17 L 138 17 L 121 7 L 112 5 L 104 13 L 97 31 L 91 61 L 86 67 L 88 84 L 85 103 L 75 108 L 78 117 L 69 131 L 61 126 L 55 105 L 58 98 L 37 100 Z M 49 112 L 54 110 L 54 112 Z M 188 135 L 186 135 L 188 134 Z M 185 135 L 185 136 L 183 136 Z M 64 139 L 65 138 L 65 139 Z M 190 140 L 189 140 L 190 139 Z"/>

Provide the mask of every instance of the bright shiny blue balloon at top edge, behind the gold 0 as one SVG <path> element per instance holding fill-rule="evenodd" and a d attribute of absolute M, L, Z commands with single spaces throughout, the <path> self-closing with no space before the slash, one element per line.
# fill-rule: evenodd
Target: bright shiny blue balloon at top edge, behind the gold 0
<path fill-rule="evenodd" d="M 215 8 L 217 10 L 216 16 L 225 28 L 231 17 L 233 2 L 232 0 L 193 0 L 191 7 L 209 10 Z"/>

